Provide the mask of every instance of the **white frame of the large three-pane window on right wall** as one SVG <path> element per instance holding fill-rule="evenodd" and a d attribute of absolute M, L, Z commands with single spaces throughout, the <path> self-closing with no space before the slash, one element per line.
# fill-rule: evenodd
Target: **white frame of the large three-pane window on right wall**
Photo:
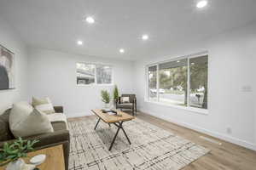
<path fill-rule="evenodd" d="M 207 55 L 207 59 L 209 61 L 209 54 L 208 54 L 208 51 L 203 51 L 203 52 L 200 52 L 200 53 L 196 53 L 196 54 L 189 54 L 189 55 L 184 55 L 182 57 L 175 57 L 175 58 L 172 58 L 172 59 L 167 59 L 167 60 L 164 60 L 164 61 L 160 61 L 160 62 L 155 62 L 153 64 L 149 64 L 149 65 L 146 65 L 145 66 L 145 71 L 146 71 L 146 95 L 144 97 L 144 101 L 145 102 L 148 102 L 148 103 L 154 103 L 154 104 L 157 104 L 157 105 L 165 105 L 165 106 L 171 106 L 171 107 L 174 107 L 174 108 L 177 108 L 177 109 L 183 109 L 183 110 L 186 110 L 186 111 L 192 111 L 192 112 L 195 112 L 195 113 L 201 113 L 201 114 L 204 114 L 204 115 L 208 115 L 208 110 L 209 110 L 209 105 L 207 107 L 207 109 L 203 109 L 203 108 L 195 108 L 195 107 L 191 107 L 189 104 L 190 104 L 190 59 L 194 59 L 194 58 L 197 58 L 197 57 L 202 57 L 202 56 L 205 56 Z M 166 104 L 166 103 L 163 103 L 163 102 L 160 102 L 160 96 L 159 96 L 159 65 L 160 64 L 163 64 L 163 63 L 166 63 L 166 62 L 172 62 L 172 61 L 177 61 L 179 59 L 187 59 L 187 66 L 188 66 L 188 69 L 187 69 L 187 75 L 188 75 L 188 78 L 187 78 L 187 86 L 188 86 L 188 90 L 187 90 L 187 105 L 173 105 L 173 104 Z M 156 80 L 156 87 L 157 87 L 157 101 L 151 101 L 149 99 L 149 77 L 148 77 L 148 68 L 150 66 L 154 66 L 156 65 L 157 66 L 157 80 Z M 207 82 L 209 82 L 209 62 L 208 62 L 208 65 L 207 65 Z M 209 89 L 209 83 L 207 83 L 207 88 Z M 209 93 L 209 90 L 208 90 L 208 93 Z M 207 95 L 207 98 L 208 98 L 209 94 Z M 207 99 L 207 102 L 209 100 Z"/>

